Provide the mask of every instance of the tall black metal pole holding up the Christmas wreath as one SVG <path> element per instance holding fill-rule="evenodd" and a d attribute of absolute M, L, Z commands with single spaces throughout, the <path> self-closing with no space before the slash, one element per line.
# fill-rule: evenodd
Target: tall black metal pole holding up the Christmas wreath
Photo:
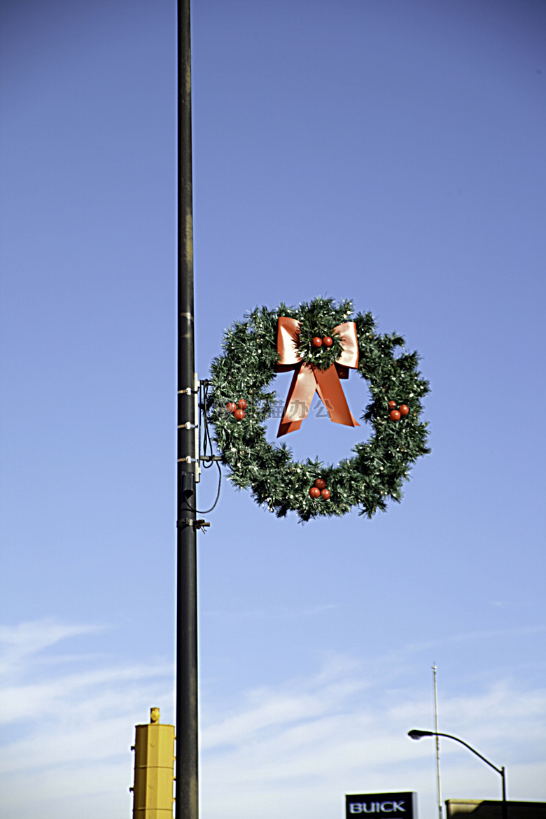
<path fill-rule="evenodd" d="M 190 0 L 178 0 L 176 819 L 199 816 L 195 390 Z"/>

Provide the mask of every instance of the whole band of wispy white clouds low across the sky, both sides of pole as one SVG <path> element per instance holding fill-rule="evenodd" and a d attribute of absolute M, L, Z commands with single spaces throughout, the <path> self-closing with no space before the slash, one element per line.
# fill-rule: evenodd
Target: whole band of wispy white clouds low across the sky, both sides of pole
<path fill-rule="evenodd" d="M 0 629 L 6 681 L 0 781 L 10 819 L 72 819 L 74 808 L 79 819 L 130 813 L 133 725 L 147 719 L 151 705 L 172 715 L 173 669 L 168 662 L 103 657 L 82 667 L 81 657 L 66 655 L 58 666 L 41 663 L 46 654 L 55 658 L 61 641 L 96 629 L 53 621 Z M 341 819 L 343 794 L 390 789 L 417 790 L 422 817 L 432 817 L 433 747 L 407 737 L 409 728 L 431 722 L 430 692 L 408 683 L 416 650 L 408 646 L 370 663 L 333 656 L 314 675 L 242 692 L 229 708 L 205 700 L 204 819 L 257 813 Z M 512 681 L 441 703 L 449 732 L 508 766 L 513 799 L 546 798 L 544 717 L 546 690 Z M 494 772 L 448 740 L 442 765 L 444 795 L 497 797 Z"/>

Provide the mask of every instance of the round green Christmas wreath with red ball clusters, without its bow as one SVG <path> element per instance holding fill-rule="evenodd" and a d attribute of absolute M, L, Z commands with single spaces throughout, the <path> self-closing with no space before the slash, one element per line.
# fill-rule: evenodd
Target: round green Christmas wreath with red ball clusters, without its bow
<path fill-rule="evenodd" d="M 396 356 L 403 337 L 378 334 L 371 313 L 352 316 L 351 301 L 336 304 L 321 297 L 298 308 L 256 308 L 226 331 L 224 353 L 211 365 L 208 417 L 222 462 L 231 470 L 229 479 L 240 489 L 250 488 L 255 500 L 278 517 L 294 511 L 308 521 L 319 515 L 341 516 L 356 506 L 359 514 L 372 518 L 377 509 L 386 510 L 389 498 L 401 500 L 410 465 L 430 452 L 427 424 L 420 420 L 421 399 L 429 386 L 417 370 L 417 352 Z M 354 456 L 337 466 L 318 459 L 297 462 L 286 444 L 266 439 L 265 422 L 278 407 L 277 394 L 269 386 L 280 361 L 282 317 L 299 322 L 296 354 L 315 373 L 336 364 L 343 353 L 341 333 L 334 328 L 348 319 L 354 322 L 358 371 L 372 395 L 362 419 L 372 424 L 374 434 L 357 443 Z M 316 346 L 321 338 L 324 344 Z M 338 371 L 343 378 L 345 373 Z"/>

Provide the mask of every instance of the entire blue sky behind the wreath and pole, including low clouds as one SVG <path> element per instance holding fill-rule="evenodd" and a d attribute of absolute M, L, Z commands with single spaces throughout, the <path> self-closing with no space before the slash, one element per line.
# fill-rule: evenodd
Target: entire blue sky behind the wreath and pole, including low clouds
<path fill-rule="evenodd" d="M 255 305 L 352 298 L 422 355 L 432 447 L 372 521 L 278 521 L 223 482 L 203 819 L 383 790 L 434 817 L 433 745 L 406 736 L 433 662 L 440 731 L 546 800 L 546 8 L 195 0 L 192 25 L 200 376 Z M 134 724 L 174 718 L 175 7 L 3 0 L 0 38 L 0 789 L 10 819 L 121 819 Z M 499 797 L 447 740 L 442 783 Z"/>

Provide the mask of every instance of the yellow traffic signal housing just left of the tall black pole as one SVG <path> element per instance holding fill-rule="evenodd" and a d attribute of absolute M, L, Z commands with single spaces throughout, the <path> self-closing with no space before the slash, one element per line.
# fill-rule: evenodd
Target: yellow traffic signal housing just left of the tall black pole
<path fill-rule="evenodd" d="M 133 819 L 172 819 L 174 803 L 174 725 L 160 724 L 160 709 L 150 722 L 135 726 Z"/>

